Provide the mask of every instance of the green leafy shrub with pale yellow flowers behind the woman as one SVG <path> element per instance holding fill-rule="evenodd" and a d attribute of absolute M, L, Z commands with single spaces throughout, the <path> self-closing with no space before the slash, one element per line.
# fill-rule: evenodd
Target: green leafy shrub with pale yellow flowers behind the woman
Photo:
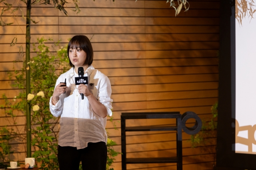
<path fill-rule="evenodd" d="M 69 68 L 67 48 L 59 47 L 59 41 L 52 47 L 58 48 L 57 53 L 50 53 L 50 47 L 45 42 L 52 41 L 52 39 L 38 39 L 37 44 L 33 44 L 36 56 L 25 63 L 23 61 L 22 69 L 15 70 L 14 73 L 8 73 L 10 80 L 14 78 L 13 87 L 19 88 L 21 92 L 13 99 L 8 99 L 4 94 L 5 100 L 4 108 L 6 117 L 17 117 L 17 114 L 26 115 L 26 106 L 29 104 L 32 110 L 31 115 L 31 132 L 34 154 L 32 157 L 36 158 L 37 166 L 42 170 L 58 170 L 58 120 L 59 118 L 53 117 L 49 109 L 49 99 L 53 94 L 56 80 L 60 74 L 66 72 Z M 67 45 L 66 45 L 67 46 Z M 26 67 L 26 65 L 28 65 Z M 26 96 L 25 91 L 25 70 L 30 69 L 31 76 L 31 94 Z M 16 124 L 16 119 L 10 122 L 12 125 Z M 16 129 L 17 138 L 23 143 L 26 143 L 26 134 L 22 133 L 20 129 Z M 6 144 L 10 146 L 8 143 Z M 110 149 L 116 143 L 108 139 L 108 165 L 111 165 L 119 152 Z M 24 147 L 26 148 L 26 147 Z M 8 152 L 7 155 L 10 155 Z M 81 167 L 82 168 L 82 167 Z"/>

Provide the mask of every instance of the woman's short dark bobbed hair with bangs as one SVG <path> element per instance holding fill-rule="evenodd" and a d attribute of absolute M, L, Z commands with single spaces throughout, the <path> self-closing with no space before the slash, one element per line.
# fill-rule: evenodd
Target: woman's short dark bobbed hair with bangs
<path fill-rule="evenodd" d="M 71 63 L 69 58 L 69 49 L 82 49 L 84 52 L 86 52 L 86 60 L 84 62 L 84 65 L 90 66 L 93 61 L 93 49 L 92 44 L 88 37 L 85 35 L 75 35 L 72 39 L 70 39 L 68 43 L 68 59 L 69 59 L 69 65 L 74 67 L 74 65 Z"/>

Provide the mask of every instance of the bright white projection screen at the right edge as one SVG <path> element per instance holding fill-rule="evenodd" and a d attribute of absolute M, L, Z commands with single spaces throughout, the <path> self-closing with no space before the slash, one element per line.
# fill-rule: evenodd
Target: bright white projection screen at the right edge
<path fill-rule="evenodd" d="M 236 153 L 256 154 L 255 132 L 256 19 L 247 15 L 240 20 L 236 16 Z"/>

